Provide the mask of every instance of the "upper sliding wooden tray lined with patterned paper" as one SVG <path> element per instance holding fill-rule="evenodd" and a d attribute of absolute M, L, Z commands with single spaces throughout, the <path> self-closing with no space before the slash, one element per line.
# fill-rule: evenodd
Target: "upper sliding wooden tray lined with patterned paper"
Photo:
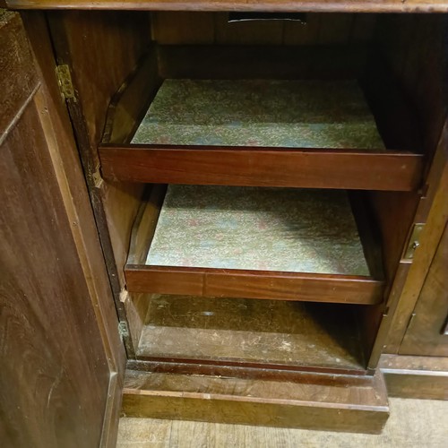
<path fill-rule="evenodd" d="M 194 50 L 188 56 L 197 58 Z M 197 75 L 197 70 L 163 74 Z M 389 140 L 393 145 L 400 139 L 380 135 L 375 119 L 381 122 L 383 111 L 373 115 L 356 80 L 158 76 L 151 59 L 146 61 L 112 101 L 99 146 L 102 174 L 109 180 L 402 191 L 418 187 L 421 155 L 412 148 L 389 147 Z M 385 88 L 383 92 L 387 94 Z M 401 110 L 397 113 L 402 116 Z M 400 125 L 392 127 L 392 134 L 407 133 Z"/>

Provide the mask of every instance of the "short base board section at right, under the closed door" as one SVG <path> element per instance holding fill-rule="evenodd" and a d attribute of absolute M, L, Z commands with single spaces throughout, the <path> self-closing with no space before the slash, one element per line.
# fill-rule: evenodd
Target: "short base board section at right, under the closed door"
<path fill-rule="evenodd" d="M 382 355 L 379 366 L 391 397 L 448 400 L 448 358 Z"/>

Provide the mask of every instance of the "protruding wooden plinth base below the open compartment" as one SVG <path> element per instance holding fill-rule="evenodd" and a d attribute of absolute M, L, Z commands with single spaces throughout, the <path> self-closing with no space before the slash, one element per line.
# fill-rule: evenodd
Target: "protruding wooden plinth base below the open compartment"
<path fill-rule="evenodd" d="M 389 417 L 380 371 L 355 379 L 272 381 L 127 370 L 122 416 L 381 433 Z"/>

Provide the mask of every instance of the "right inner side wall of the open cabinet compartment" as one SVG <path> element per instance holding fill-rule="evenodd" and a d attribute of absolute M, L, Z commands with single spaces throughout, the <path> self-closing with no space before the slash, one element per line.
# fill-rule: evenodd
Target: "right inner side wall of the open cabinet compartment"
<path fill-rule="evenodd" d="M 373 192 L 371 200 L 383 234 L 383 263 L 389 289 L 385 314 L 375 342 L 374 358 L 385 347 L 397 353 L 409 315 L 401 297 L 412 274 L 402 253 L 415 223 L 426 223 L 444 169 L 444 122 L 447 114 L 447 17 L 444 14 L 382 16 L 375 44 L 384 63 L 418 118 L 421 151 L 426 157 L 423 182 L 416 192 Z M 437 155 L 438 154 L 438 155 Z M 417 292 L 418 294 L 418 292 Z M 393 321 L 393 325 L 392 325 Z"/>

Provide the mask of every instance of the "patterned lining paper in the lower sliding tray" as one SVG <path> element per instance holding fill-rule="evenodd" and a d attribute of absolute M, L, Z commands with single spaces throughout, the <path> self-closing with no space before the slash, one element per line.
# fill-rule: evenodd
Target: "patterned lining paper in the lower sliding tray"
<path fill-rule="evenodd" d="M 169 185 L 146 264 L 369 275 L 341 190 Z"/>

